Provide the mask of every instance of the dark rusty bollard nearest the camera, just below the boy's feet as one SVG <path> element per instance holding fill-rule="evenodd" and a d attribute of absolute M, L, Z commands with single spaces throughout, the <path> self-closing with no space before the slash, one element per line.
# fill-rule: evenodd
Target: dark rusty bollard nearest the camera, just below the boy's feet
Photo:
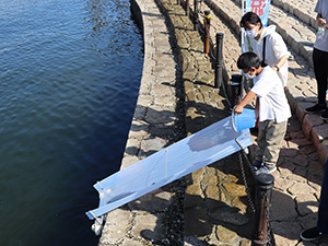
<path fill-rule="evenodd" d="M 256 176 L 256 220 L 253 242 L 256 245 L 266 246 L 271 242 L 269 210 L 272 196 L 274 177 L 271 174 Z"/>

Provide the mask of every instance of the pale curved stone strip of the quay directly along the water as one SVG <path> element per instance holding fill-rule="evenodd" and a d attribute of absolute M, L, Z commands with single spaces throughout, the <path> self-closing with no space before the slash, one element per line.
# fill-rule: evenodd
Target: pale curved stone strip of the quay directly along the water
<path fill-rule="evenodd" d="M 142 13 L 144 65 L 121 168 L 185 137 L 179 117 L 184 97 L 164 16 L 153 0 L 132 2 L 132 8 L 137 16 Z M 179 211 L 176 186 L 180 185 L 173 183 L 109 212 L 98 245 L 163 245 L 172 234 L 163 226 L 169 222 L 166 214 Z"/>

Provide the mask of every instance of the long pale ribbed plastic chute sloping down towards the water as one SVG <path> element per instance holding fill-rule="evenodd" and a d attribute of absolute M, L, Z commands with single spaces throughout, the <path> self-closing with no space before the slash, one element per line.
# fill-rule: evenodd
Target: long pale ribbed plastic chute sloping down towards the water
<path fill-rule="evenodd" d="M 253 144 L 249 130 L 236 132 L 231 117 L 211 125 L 138 163 L 98 181 L 99 207 L 86 212 L 98 218 L 206 165 Z M 238 144 L 235 139 L 237 139 Z"/>

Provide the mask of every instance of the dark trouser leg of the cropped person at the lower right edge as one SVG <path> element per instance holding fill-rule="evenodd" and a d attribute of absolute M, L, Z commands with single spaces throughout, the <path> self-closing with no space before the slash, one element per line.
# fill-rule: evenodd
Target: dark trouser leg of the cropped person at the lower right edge
<path fill-rule="evenodd" d="M 325 164 L 317 229 L 319 232 L 328 233 L 328 160 Z"/>

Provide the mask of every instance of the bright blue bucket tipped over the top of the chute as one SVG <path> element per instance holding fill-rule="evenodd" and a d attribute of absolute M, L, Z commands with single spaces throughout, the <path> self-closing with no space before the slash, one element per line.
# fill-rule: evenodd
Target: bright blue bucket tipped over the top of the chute
<path fill-rule="evenodd" d="M 235 131 L 253 128 L 255 127 L 255 122 L 254 109 L 244 108 L 241 115 L 235 115 L 234 112 L 232 113 L 232 124 Z"/>

